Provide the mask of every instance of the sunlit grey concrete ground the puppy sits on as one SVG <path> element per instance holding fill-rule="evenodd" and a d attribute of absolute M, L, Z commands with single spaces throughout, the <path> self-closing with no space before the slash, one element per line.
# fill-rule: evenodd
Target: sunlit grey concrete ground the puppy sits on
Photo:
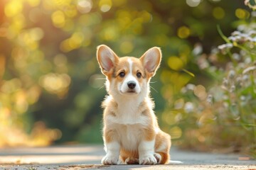
<path fill-rule="evenodd" d="M 256 161 L 239 154 L 210 154 L 186 152 L 173 147 L 171 159 L 183 164 L 167 165 L 114 165 L 100 164 L 105 155 L 102 145 L 77 145 L 35 148 L 0 149 L 0 169 L 242 169 L 256 170 Z"/>

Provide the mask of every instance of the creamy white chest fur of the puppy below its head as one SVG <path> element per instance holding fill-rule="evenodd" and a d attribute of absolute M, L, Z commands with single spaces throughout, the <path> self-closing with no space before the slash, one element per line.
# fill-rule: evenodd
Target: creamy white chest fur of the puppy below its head
<path fill-rule="evenodd" d="M 149 116 L 142 113 L 142 108 L 142 103 L 136 100 L 119 101 L 116 107 L 110 109 L 113 114 L 105 117 L 107 127 L 117 133 L 117 140 L 127 150 L 138 148 L 144 128 L 151 122 Z"/>

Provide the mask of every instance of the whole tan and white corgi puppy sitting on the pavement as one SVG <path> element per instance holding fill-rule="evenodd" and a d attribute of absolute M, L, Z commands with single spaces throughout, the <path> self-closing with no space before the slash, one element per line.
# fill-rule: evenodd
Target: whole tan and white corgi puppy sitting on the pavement
<path fill-rule="evenodd" d="M 106 76 L 108 96 L 102 103 L 102 164 L 169 163 L 171 136 L 159 129 L 149 81 L 161 62 L 161 50 L 152 47 L 140 58 L 117 57 L 106 45 L 97 47 L 97 61 Z"/>

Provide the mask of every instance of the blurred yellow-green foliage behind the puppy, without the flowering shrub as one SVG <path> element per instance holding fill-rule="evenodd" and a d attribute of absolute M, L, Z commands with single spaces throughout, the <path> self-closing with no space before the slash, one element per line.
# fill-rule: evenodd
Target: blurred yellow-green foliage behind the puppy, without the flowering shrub
<path fill-rule="evenodd" d="M 197 56 L 223 43 L 217 25 L 228 35 L 250 16 L 243 1 L 0 1 L 0 146 L 102 142 L 100 44 L 136 57 L 161 47 L 151 95 L 162 128 L 180 144 L 188 125 L 198 126 L 174 109 L 181 89 L 221 77 L 201 69 Z"/>

